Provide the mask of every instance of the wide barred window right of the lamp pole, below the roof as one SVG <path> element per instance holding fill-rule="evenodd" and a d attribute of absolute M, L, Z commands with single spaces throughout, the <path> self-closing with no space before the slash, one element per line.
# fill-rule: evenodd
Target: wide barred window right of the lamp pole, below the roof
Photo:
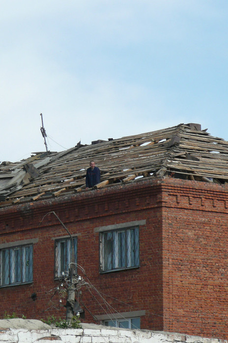
<path fill-rule="evenodd" d="M 139 227 L 100 233 L 101 271 L 139 266 Z"/>

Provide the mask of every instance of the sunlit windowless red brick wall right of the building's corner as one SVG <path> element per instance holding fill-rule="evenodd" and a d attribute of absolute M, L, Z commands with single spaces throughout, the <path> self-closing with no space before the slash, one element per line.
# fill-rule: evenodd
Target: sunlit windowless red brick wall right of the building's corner
<path fill-rule="evenodd" d="M 164 330 L 228 337 L 227 190 L 175 179 L 163 188 Z"/>

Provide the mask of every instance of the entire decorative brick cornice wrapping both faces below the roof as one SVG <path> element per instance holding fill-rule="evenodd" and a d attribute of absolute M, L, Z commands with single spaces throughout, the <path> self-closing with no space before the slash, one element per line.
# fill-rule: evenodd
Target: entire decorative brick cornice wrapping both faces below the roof
<path fill-rule="evenodd" d="M 13 232 L 57 225 L 53 216 L 47 216 L 40 224 L 50 211 L 70 223 L 158 207 L 227 213 L 228 185 L 163 177 L 71 193 L 0 209 L 0 230 Z"/>

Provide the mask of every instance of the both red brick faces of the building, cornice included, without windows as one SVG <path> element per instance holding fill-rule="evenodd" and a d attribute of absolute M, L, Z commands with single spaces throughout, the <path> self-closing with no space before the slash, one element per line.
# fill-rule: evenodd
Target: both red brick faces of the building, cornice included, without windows
<path fill-rule="evenodd" d="M 57 294 L 50 299 L 59 284 L 53 238 L 67 234 L 53 214 L 41 222 L 56 211 L 71 234 L 79 234 L 78 264 L 118 312 L 146 310 L 145 329 L 227 338 L 227 190 L 163 178 L 0 209 L 0 243 L 39 239 L 33 283 L 1 288 L 0 315 L 6 310 L 29 318 L 64 316 Z M 136 220 L 146 220 L 140 227 L 140 267 L 99 274 L 94 228 Z M 110 312 L 95 290 L 83 287 L 81 297 L 92 315 Z M 89 312 L 85 321 L 93 320 Z"/>

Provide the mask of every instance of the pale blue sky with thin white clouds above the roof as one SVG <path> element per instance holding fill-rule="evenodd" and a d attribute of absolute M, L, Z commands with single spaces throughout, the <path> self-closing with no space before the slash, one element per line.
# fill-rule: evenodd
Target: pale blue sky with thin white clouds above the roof
<path fill-rule="evenodd" d="M 228 140 L 227 0 L 0 1 L 0 161 L 199 123 Z"/>

